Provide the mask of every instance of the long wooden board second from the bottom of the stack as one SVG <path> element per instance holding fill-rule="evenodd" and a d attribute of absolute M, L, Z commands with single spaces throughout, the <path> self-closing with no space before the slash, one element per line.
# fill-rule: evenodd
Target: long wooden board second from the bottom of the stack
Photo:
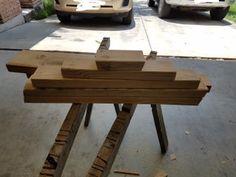
<path fill-rule="evenodd" d="M 39 89 L 30 79 L 26 81 L 25 96 L 75 97 L 203 97 L 208 88 L 201 82 L 197 89 Z"/>

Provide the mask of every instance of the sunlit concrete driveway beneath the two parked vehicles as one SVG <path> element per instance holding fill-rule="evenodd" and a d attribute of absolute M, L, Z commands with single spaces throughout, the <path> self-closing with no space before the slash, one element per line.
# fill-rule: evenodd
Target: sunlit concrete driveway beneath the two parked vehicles
<path fill-rule="evenodd" d="M 172 18 L 157 17 L 146 1 L 135 1 L 135 22 L 117 19 L 75 19 L 62 25 L 56 16 L 33 21 L 0 33 L 0 48 L 95 52 L 103 37 L 113 49 L 141 49 L 145 54 L 207 58 L 236 58 L 236 25 L 212 21 L 206 13 L 174 12 Z"/>

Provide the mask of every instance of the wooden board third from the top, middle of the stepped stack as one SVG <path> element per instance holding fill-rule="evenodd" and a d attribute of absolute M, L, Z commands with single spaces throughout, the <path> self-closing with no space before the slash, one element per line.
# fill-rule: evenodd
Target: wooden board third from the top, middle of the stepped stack
<path fill-rule="evenodd" d="M 60 66 L 41 66 L 31 76 L 38 88 L 192 88 L 199 86 L 201 78 L 191 71 L 178 71 L 174 81 L 138 81 L 64 78 Z"/>

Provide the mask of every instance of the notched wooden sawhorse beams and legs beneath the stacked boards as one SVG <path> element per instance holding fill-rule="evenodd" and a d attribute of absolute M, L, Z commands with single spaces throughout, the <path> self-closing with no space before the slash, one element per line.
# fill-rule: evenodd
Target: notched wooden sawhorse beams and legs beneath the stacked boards
<path fill-rule="evenodd" d="M 114 107 L 117 113 L 117 118 L 114 121 L 86 177 L 108 176 L 125 132 L 129 126 L 130 120 L 136 109 L 136 104 L 124 104 L 121 109 L 119 104 L 114 104 Z M 168 139 L 162 109 L 160 105 L 156 104 L 151 104 L 151 107 L 161 152 L 165 153 L 168 147 Z M 87 127 L 90 122 L 92 108 L 93 104 L 72 104 L 59 130 L 59 133 L 56 136 L 55 142 L 44 162 L 43 168 L 39 175 L 40 177 L 61 176 L 85 111 L 87 109 L 84 126 Z"/>

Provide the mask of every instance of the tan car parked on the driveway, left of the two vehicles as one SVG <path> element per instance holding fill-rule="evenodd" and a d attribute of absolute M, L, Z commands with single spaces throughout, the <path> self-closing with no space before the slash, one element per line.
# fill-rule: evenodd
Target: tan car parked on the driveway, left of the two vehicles
<path fill-rule="evenodd" d="M 132 0 L 54 0 L 57 17 L 62 22 L 72 15 L 120 16 L 122 23 L 129 25 L 133 19 Z"/>

